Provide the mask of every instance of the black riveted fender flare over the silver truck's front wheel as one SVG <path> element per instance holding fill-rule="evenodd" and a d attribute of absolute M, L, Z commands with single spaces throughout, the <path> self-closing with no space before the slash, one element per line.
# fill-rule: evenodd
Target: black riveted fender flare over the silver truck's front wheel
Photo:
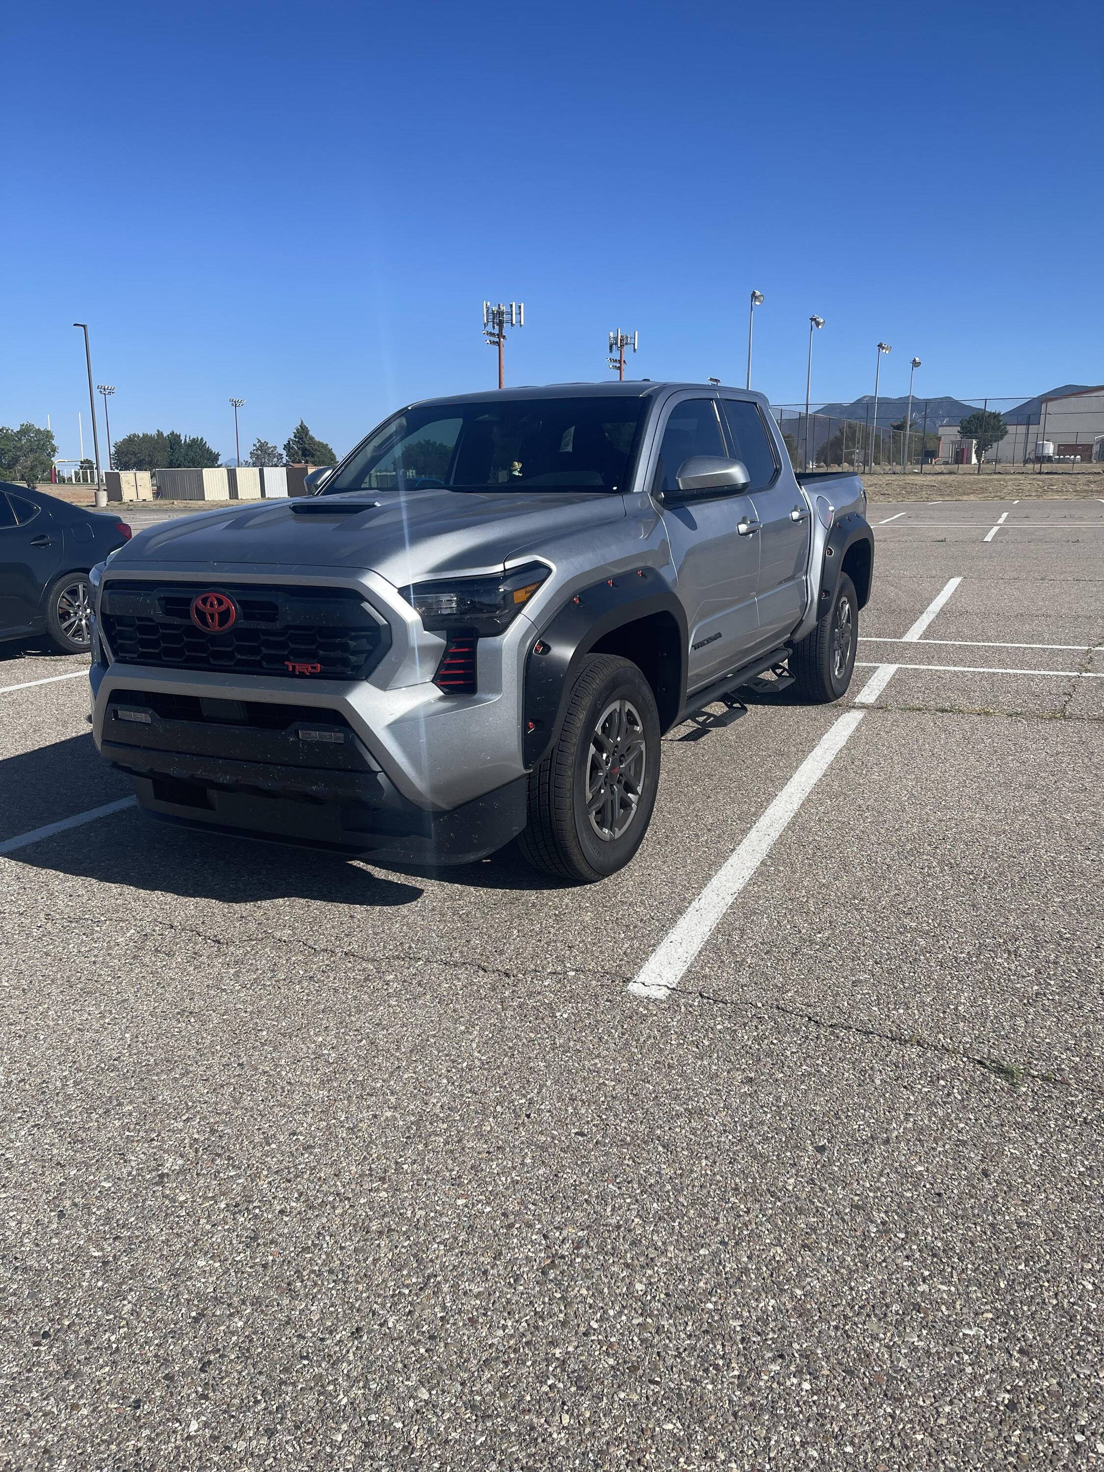
<path fill-rule="evenodd" d="M 654 614 L 670 614 L 679 629 L 677 668 L 661 661 L 662 707 L 686 699 L 686 614 L 670 584 L 651 567 L 617 573 L 574 593 L 533 637 L 523 683 L 523 757 L 534 767 L 559 736 L 571 686 L 583 658 L 606 634 Z"/>

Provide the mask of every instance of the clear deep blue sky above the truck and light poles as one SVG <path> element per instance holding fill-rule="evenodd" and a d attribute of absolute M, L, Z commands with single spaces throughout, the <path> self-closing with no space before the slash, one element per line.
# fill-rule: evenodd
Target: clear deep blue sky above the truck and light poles
<path fill-rule="evenodd" d="M 673 3 L 21 6 L 4 28 L 0 422 L 233 456 L 346 450 L 508 381 L 631 371 L 814 397 L 1104 381 L 1101 7 Z M 21 82 L 19 78 L 25 78 Z"/>

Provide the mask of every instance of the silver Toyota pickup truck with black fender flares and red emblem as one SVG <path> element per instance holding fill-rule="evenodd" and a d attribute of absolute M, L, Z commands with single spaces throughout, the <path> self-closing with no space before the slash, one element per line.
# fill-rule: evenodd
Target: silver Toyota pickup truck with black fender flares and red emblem
<path fill-rule="evenodd" d="M 843 695 L 871 576 L 860 480 L 795 475 L 761 394 L 430 399 L 316 495 L 100 564 L 93 733 L 168 820 L 412 866 L 517 839 L 589 883 L 639 848 L 665 732 L 749 684 Z"/>

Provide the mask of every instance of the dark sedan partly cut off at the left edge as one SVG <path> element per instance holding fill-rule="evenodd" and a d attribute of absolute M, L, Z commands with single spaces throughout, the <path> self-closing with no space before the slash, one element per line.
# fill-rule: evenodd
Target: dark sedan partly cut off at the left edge
<path fill-rule="evenodd" d="M 87 654 L 88 570 L 130 534 L 109 512 L 0 481 L 0 639 L 49 634 L 62 654 Z"/>

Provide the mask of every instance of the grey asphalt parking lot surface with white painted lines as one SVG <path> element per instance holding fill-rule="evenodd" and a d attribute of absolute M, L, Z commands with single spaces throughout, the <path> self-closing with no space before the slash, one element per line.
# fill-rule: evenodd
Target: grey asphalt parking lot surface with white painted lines
<path fill-rule="evenodd" d="M 870 520 L 587 889 L 160 827 L 0 646 L 0 1468 L 1104 1468 L 1104 502 Z"/>

